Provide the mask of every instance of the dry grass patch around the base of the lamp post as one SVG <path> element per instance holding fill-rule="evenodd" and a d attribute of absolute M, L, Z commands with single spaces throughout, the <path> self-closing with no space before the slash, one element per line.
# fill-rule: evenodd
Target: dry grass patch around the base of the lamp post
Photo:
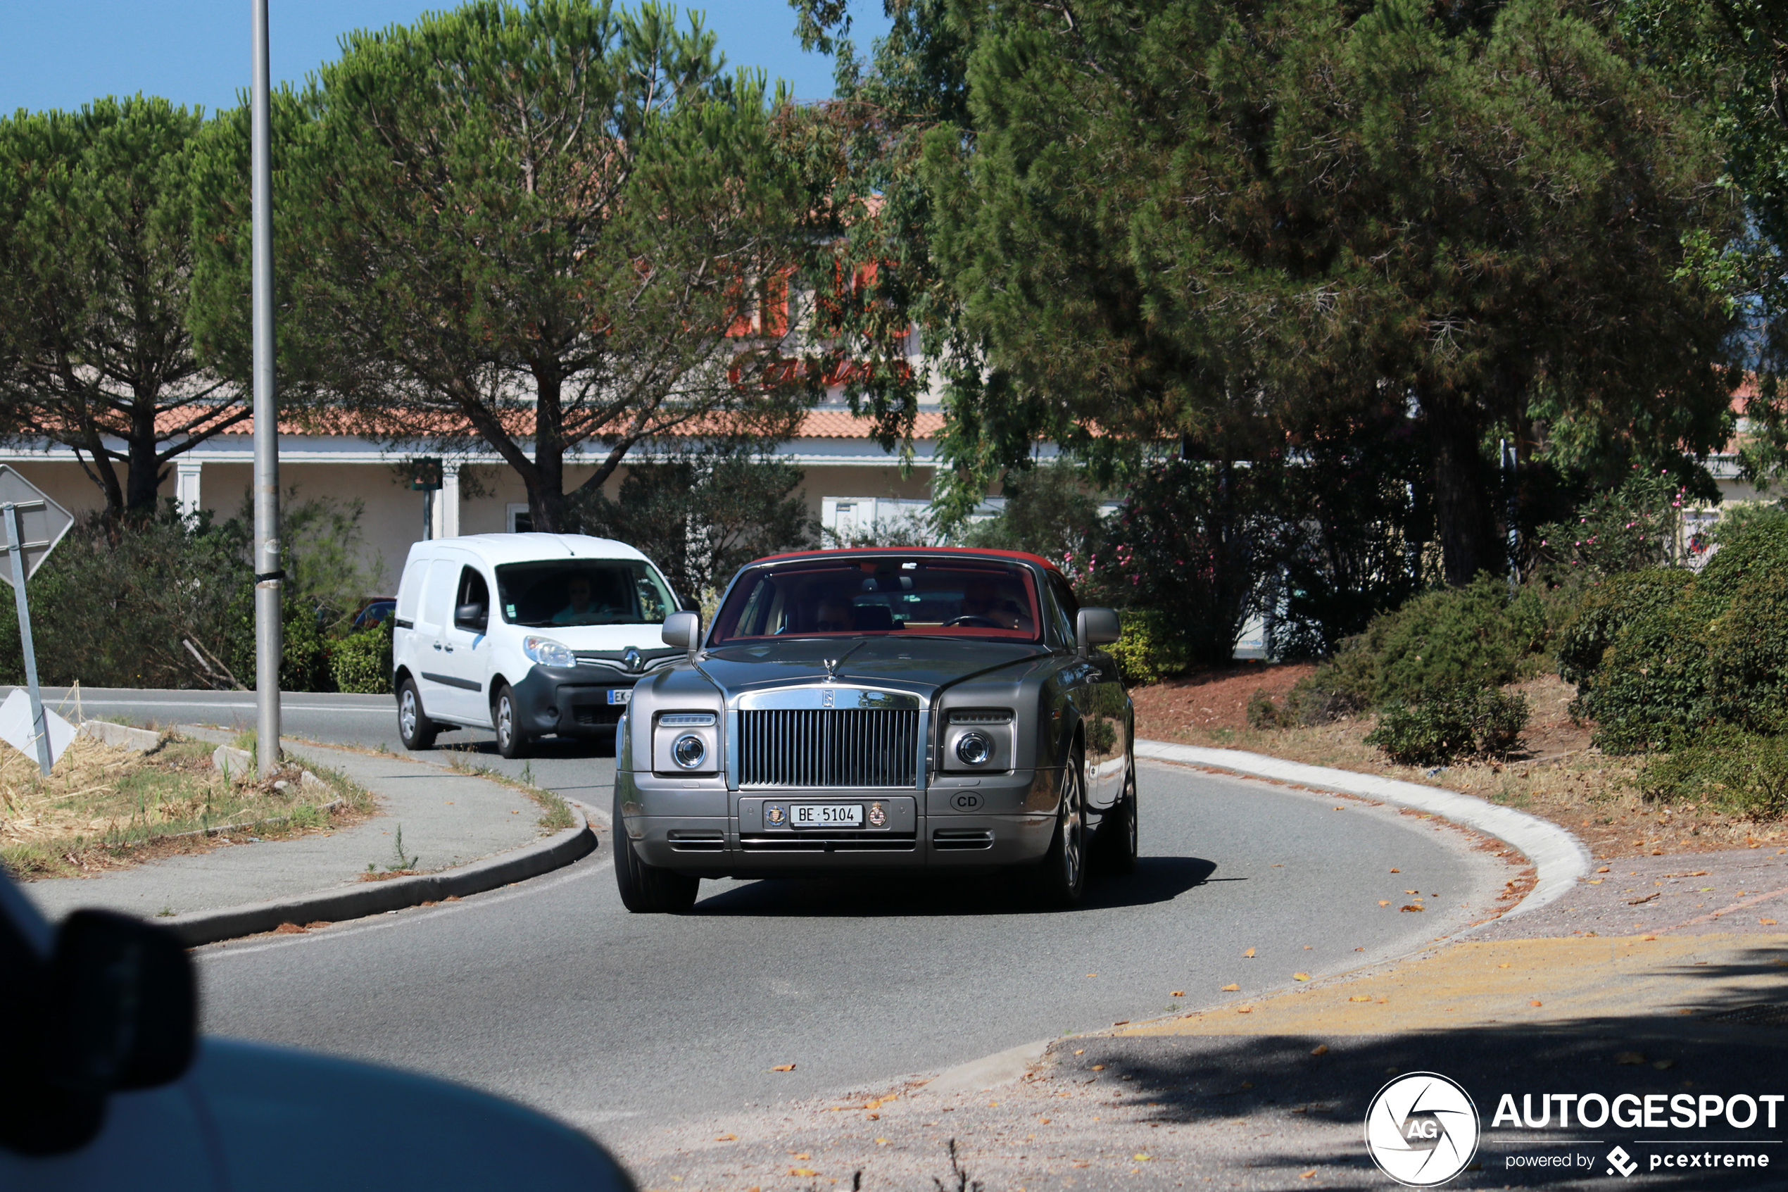
<path fill-rule="evenodd" d="M 211 765 L 215 745 L 166 735 L 150 752 L 77 736 L 48 777 L 0 745 L 0 863 L 20 879 L 66 877 L 134 865 L 218 844 L 216 829 L 256 836 L 327 829 L 370 810 L 370 795 L 318 772 L 306 788 L 297 765 L 268 783 L 232 785 Z M 313 767 L 315 770 L 315 767 Z M 338 802 L 334 810 L 325 804 Z"/>

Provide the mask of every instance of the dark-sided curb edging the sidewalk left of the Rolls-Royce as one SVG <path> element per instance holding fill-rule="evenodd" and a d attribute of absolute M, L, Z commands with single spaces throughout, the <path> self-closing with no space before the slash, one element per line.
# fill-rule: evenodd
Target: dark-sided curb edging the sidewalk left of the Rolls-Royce
<path fill-rule="evenodd" d="M 342 922 L 343 919 L 365 919 L 384 911 L 420 906 L 422 902 L 440 902 L 442 899 L 483 894 L 515 881 L 526 881 L 563 869 L 595 851 L 595 831 L 583 808 L 576 808 L 579 824 L 574 824 L 545 840 L 540 840 L 510 852 L 472 861 L 458 869 L 438 874 L 417 874 L 415 877 L 392 877 L 390 881 L 368 881 L 340 890 L 320 890 L 300 894 L 290 899 L 268 899 L 266 902 L 243 902 L 224 906 L 213 911 L 193 911 L 156 919 L 154 922 L 173 931 L 186 947 L 234 940 L 245 935 L 274 931 L 281 924 Z"/>

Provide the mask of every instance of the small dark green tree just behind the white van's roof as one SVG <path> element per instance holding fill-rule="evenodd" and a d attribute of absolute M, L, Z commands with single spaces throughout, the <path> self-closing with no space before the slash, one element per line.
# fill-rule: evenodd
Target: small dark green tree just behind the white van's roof
<path fill-rule="evenodd" d="M 719 590 L 751 559 L 814 543 L 801 470 L 719 445 L 662 463 L 635 463 L 610 500 L 581 493 L 567 515 L 578 533 L 619 538 L 663 568 L 685 600 Z"/>

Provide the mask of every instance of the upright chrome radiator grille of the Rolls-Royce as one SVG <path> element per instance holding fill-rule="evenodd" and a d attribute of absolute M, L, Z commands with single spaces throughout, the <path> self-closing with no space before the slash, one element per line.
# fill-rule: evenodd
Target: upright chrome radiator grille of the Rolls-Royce
<path fill-rule="evenodd" d="M 740 786 L 915 786 L 917 756 L 917 709 L 738 713 Z"/>

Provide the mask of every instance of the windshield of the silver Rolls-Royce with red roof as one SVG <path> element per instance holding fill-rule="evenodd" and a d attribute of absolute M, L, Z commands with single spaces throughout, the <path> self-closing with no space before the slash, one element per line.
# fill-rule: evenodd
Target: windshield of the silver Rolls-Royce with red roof
<path fill-rule="evenodd" d="M 992 559 L 876 556 L 751 568 L 726 597 L 713 642 L 887 633 L 1035 642 L 1026 568 Z"/>

